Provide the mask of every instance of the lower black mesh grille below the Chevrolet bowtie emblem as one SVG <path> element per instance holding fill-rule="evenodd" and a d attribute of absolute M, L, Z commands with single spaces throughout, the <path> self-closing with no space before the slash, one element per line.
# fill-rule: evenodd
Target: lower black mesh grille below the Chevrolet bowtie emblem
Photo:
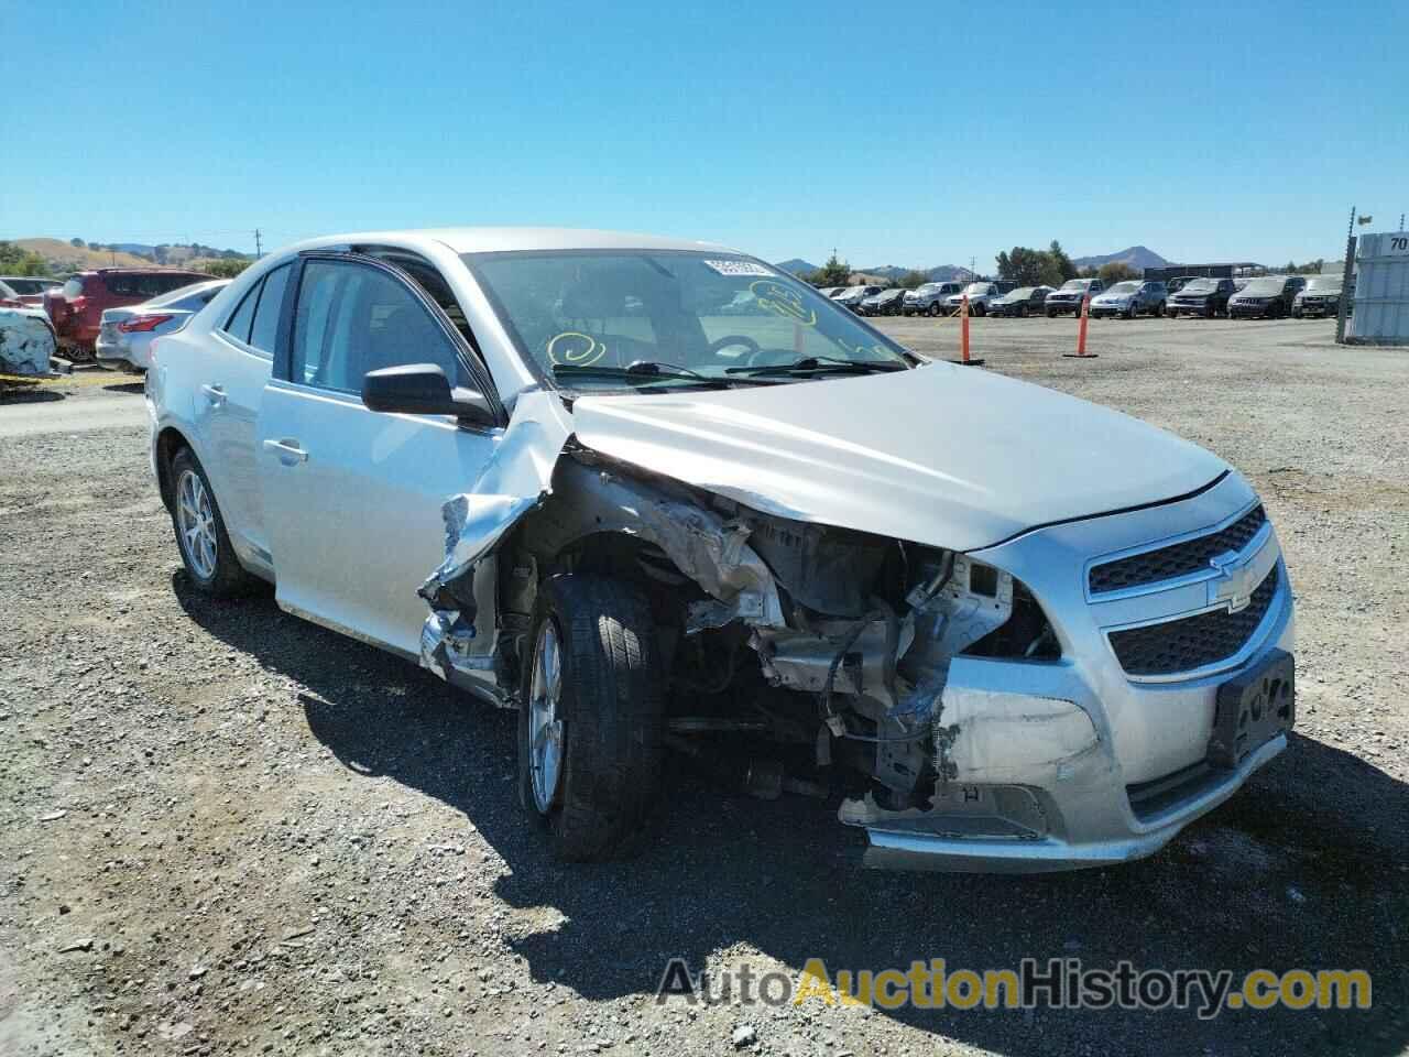
<path fill-rule="evenodd" d="M 1267 616 L 1281 583 L 1281 565 L 1262 578 L 1237 613 L 1216 609 L 1191 617 L 1110 633 L 1127 675 L 1174 675 L 1226 661 L 1241 650 Z"/>

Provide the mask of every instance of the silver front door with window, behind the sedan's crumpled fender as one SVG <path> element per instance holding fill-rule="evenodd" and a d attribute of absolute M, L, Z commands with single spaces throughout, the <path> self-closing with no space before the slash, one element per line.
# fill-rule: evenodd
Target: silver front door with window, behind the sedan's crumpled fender
<path fill-rule="evenodd" d="M 417 588 L 445 558 L 445 500 L 471 488 L 500 428 L 449 416 L 382 414 L 362 376 L 437 364 L 489 389 L 454 324 L 402 269 L 310 254 L 259 407 L 259 479 L 279 605 L 418 657 L 428 616 Z"/>

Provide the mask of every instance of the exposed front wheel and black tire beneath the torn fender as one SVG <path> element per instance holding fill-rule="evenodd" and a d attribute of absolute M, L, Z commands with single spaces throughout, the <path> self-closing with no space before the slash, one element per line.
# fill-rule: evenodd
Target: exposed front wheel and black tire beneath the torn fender
<path fill-rule="evenodd" d="M 665 676 L 645 598 L 607 576 L 538 593 L 519 706 L 519 798 L 568 863 L 612 858 L 655 806 Z"/>

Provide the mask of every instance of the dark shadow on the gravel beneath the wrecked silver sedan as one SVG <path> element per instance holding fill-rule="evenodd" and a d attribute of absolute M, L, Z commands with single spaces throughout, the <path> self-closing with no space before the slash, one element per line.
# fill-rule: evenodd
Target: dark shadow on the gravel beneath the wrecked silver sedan
<path fill-rule="evenodd" d="M 1320 741 L 1293 736 L 1229 803 L 1160 854 L 1119 868 L 868 871 L 857 861 L 862 839 L 837 823 L 834 805 L 730 795 L 682 768 L 668 768 L 659 819 L 635 858 L 562 865 L 524 824 L 511 713 L 289 617 L 268 596 L 216 603 L 179 572 L 173 586 L 207 631 L 307 688 L 310 731 L 349 771 L 393 778 L 462 812 L 507 867 L 499 898 L 562 915 L 551 929 L 506 936 L 537 981 L 589 999 L 654 995 L 668 960 L 700 970 L 740 943 L 793 979 L 814 957 L 831 971 L 930 958 L 951 972 L 982 971 L 1027 957 L 1226 968 L 1239 978 L 1254 968 L 1365 968 L 1371 1009 L 869 1016 L 1013 1054 L 1091 1051 L 1092 1039 L 1100 1051 L 1216 1054 L 1396 1054 L 1409 1041 L 1409 788 Z"/>

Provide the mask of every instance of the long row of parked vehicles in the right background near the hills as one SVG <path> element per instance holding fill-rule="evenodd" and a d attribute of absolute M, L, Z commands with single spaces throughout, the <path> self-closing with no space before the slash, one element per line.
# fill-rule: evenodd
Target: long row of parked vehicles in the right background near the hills
<path fill-rule="evenodd" d="M 1181 276 L 1124 279 L 1106 286 L 1100 279 L 1068 279 L 1060 288 L 1019 286 L 1006 280 L 934 282 L 913 290 L 899 286 L 828 286 L 821 293 L 859 316 L 952 316 L 968 297 L 974 316 L 1040 316 L 1081 313 L 1091 297 L 1091 316 L 1203 316 L 1206 319 L 1296 319 L 1334 316 L 1340 309 L 1339 276 L 1270 275 L 1255 279 Z"/>

